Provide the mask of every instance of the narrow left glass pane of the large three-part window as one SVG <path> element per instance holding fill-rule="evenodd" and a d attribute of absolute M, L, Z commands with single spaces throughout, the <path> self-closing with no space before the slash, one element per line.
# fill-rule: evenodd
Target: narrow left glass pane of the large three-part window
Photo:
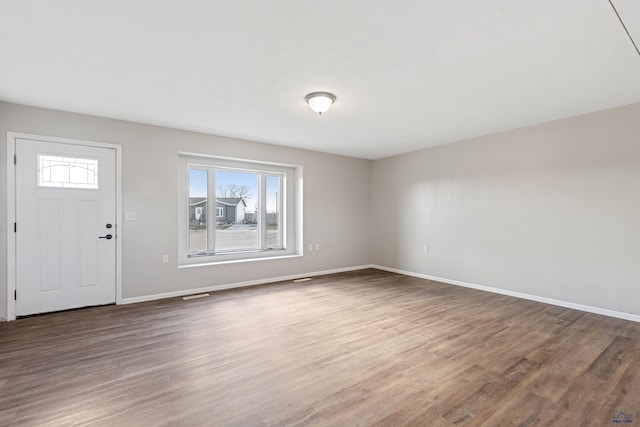
<path fill-rule="evenodd" d="M 189 169 L 189 253 L 207 252 L 207 171 Z"/>

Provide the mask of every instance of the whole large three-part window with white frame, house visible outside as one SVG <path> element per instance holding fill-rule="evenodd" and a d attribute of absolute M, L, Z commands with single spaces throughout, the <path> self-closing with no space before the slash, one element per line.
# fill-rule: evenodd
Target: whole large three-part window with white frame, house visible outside
<path fill-rule="evenodd" d="M 180 264 L 301 254 L 301 172 L 296 166 L 180 155 Z"/>

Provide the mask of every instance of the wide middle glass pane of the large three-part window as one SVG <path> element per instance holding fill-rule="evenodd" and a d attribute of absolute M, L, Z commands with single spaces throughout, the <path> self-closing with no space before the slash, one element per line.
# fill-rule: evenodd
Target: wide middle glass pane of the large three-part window
<path fill-rule="evenodd" d="M 258 174 L 216 170 L 216 252 L 260 249 Z M 218 209 L 219 208 L 219 209 Z"/>

